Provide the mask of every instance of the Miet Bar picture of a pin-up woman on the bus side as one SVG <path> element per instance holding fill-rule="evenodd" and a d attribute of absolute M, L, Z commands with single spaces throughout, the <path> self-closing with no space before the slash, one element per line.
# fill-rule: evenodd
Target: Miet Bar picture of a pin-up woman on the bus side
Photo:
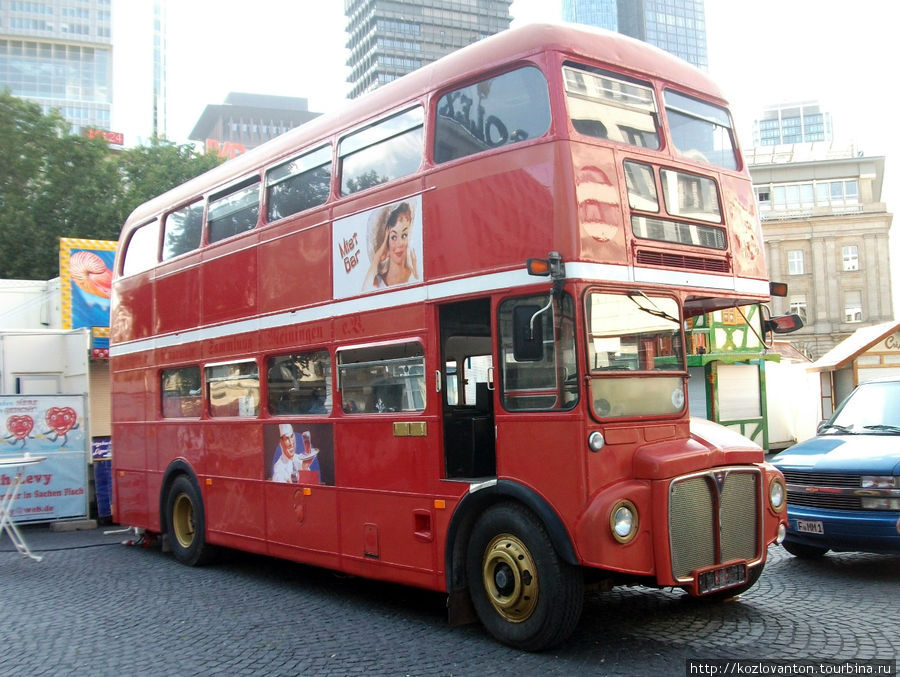
<path fill-rule="evenodd" d="M 334 222 L 334 297 L 422 281 L 421 196 Z"/>

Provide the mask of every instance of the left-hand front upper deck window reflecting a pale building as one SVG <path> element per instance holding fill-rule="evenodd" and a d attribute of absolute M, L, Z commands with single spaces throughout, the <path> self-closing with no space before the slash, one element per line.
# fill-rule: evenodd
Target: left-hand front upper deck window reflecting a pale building
<path fill-rule="evenodd" d="M 659 148 L 656 97 L 649 85 L 587 67 L 564 66 L 566 102 L 579 134 Z"/>

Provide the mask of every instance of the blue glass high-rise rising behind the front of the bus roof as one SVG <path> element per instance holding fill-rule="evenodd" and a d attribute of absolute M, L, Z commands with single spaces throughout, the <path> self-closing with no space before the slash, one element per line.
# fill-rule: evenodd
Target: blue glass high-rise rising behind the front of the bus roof
<path fill-rule="evenodd" d="M 698 68 L 709 65 L 703 0 L 562 0 L 562 18 L 630 35 Z"/>

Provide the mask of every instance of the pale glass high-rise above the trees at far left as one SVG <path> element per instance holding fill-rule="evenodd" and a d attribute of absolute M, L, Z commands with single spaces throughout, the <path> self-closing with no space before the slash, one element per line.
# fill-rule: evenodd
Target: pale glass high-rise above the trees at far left
<path fill-rule="evenodd" d="M 108 130 L 111 0 L 0 2 L 0 88 L 59 109 L 75 131 Z"/>

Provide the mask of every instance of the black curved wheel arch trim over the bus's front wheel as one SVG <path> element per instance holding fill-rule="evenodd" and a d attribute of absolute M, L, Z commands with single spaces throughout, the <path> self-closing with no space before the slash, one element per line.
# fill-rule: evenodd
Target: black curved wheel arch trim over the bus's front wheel
<path fill-rule="evenodd" d="M 469 535 L 475 521 L 492 505 L 504 501 L 520 503 L 531 510 L 544 525 L 557 555 L 568 564 L 579 566 L 575 546 L 569 532 L 553 507 L 540 494 L 518 482 L 496 480 L 486 483 L 467 493 L 456 506 L 447 529 L 445 549 L 445 571 L 447 592 L 450 594 L 451 622 L 454 621 L 456 603 L 467 607 L 468 581 L 466 579 L 466 551 Z M 458 608 L 461 617 L 466 617 L 465 609 Z M 461 620 L 461 622 L 464 622 Z"/>

